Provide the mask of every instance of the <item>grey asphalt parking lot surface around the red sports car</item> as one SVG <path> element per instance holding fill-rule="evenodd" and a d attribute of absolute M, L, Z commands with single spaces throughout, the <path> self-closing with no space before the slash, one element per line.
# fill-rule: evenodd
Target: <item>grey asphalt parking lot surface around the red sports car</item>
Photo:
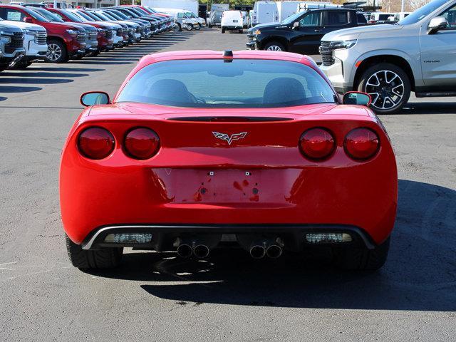
<path fill-rule="evenodd" d="M 1 341 L 456 341 L 455 98 L 410 98 L 381 117 L 400 180 L 391 251 L 378 272 L 286 255 L 258 262 L 219 252 L 196 262 L 132 249 L 113 271 L 70 265 L 58 163 L 81 93 L 113 95 L 147 53 L 245 42 L 209 28 L 165 33 L 1 73 Z"/>

